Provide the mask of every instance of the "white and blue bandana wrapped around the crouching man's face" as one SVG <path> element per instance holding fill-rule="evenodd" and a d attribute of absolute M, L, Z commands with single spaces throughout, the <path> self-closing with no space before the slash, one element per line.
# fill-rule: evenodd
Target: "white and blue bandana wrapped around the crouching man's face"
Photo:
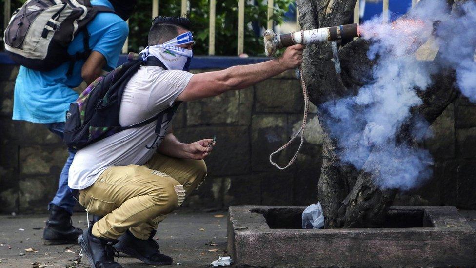
<path fill-rule="evenodd" d="M 188 71 L 193 52 L 190 49 L 179 47 L 182 44 L 193 43 L 192 32 L 183 33 L 163 44 L 147 46 L 140 53 L 142 60 L 154 56 L 170 70 Z"/>

